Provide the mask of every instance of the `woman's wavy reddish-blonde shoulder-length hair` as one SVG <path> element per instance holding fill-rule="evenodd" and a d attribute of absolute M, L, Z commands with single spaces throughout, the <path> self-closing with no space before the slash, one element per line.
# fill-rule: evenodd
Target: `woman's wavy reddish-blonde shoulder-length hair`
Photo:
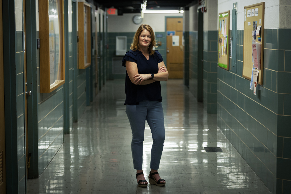
<path fill-rule="evenodd" d="M 139 26 L 139 29 L 137 29 L 136 33 L 134 34 L 130 49 L 132 49 L 133 51 L 139 49 L 139 36 L 144 29 L 150 32 L 151 41 L 150 46 L 148 47 L 148 53 L 149 55 L 153 55 L 155 53 L 154 47 L 156 47 L 155 33 L 152 30 L 152 27 L 150 27 L 150 25 L 148 24 L 141 24 Z"/>

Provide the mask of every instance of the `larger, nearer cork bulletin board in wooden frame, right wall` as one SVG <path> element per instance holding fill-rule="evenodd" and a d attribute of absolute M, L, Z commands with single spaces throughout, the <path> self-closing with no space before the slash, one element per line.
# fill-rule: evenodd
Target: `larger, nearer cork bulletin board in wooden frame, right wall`
<path fill-rule="evenodd" d="M 251 79 L 253 62 L 252 62 L 252 44 L 253 41 L 261 43 L 261 67 L 259 70 L 258 84 L 263 83 L 263 59 L 264 59 L 264 17 L 265 17 L 265 2 L 257 3 L 251 6 L 244 7 L 244 57 L 242 76 L 246 79 Z M 261 26 L 260 36 L 255 36 L 253 39 L 252 31 Z M 259 59 L 258 59 L 259 60 Z"/>

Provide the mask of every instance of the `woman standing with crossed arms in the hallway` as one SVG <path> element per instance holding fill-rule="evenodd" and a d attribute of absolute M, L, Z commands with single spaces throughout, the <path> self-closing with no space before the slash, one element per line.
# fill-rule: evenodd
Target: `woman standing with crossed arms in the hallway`
<path fill-rule="evenodd" d="M 164 186 L 157 170 L 162 156 L 165 140 L 164 112 L 160 81 L 168 80 L 168 71 L 162 55 L 153 48 L 156 46 L 155 34 L 147 24 L 142 24 L 134 35 L 130 51 L 122 60 L 126 67 L 125 105 L 126 114 L 132 129 L 132 158 L 136 169 L 139 187 L 147 187 L 142 170 L 143 138 L 145 120 L 152 132 L 152 150 L 150 159 L 150 184 Z"/>

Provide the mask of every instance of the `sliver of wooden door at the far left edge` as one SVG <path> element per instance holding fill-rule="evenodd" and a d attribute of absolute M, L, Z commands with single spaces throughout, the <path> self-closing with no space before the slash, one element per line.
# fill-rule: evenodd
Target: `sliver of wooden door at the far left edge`
<path fill-rule="evenodd" d="M 0 0 L 0 193 L 6 193 L 5 165 L 5 113 L 4 113 L 4 66 L 3 66 L 3 17 Z"/>

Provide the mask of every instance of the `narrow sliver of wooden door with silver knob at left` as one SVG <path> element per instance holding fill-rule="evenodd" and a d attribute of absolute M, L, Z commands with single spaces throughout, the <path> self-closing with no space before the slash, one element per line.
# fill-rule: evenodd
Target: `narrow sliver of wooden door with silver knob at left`
<path fill-rule="evenodd" d="M 23 58 L 24 58 L 24 92 L 27 91 L 27 71 L 26 71 L 26 23 L 25 23 L 25 0 L 23 0 L 23 41 L 24 41 L 24 52 L 23 52 Z M 29 91 L 27 91 L 29 92 Z M 28 168 L 29 168 L 29 154 L 28 154 L 28 123 L 27 123 L 27 95 L 24 95 L 24 115 L 25 115 L 25 143 L 26 143 L 26 173 L 27 178 L 28 175 Z"/>

